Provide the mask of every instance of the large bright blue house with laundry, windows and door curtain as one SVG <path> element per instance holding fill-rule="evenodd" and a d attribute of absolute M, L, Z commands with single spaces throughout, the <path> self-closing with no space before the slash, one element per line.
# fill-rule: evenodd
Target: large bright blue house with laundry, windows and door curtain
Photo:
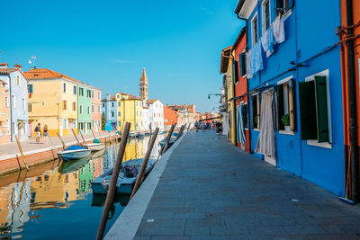
<path fill-rule="evenodd" d="M 271 164 L 345 195 L 336 0 L 239 0 L 247 24 L 251 146 Z M 240 63 L 241 64 L 241 63 Z"/>

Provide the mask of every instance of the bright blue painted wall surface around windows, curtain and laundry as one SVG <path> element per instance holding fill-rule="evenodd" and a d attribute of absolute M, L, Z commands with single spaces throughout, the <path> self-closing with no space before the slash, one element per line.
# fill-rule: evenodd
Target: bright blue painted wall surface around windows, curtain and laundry
<path fill-rule="evenodd" d="M 270 0 L 271 22 L 275 20 L 275 0 Z M 261 3 L 247 20 L 247 48 L 251 46 L 251 19 L 257 13 L 258 35 L 262 36 Z M 332 47 L 338 42 L 335 29 L 340 25 L 339 1 L 319 0 L 295 1 L 291 14 L 285 18 L 286 40 L 275 45 L 275 52 L 266 58 L 263 52 L 264 69 L 248 80 L 248 90 L 277 84 L 278 81 L 293 76 L 296 81 L 297 130 L 293 135 L 280 134 L 276 130 L 276 164 L 284 170 L 314 182 L 321 187 L 345 195 L 344 133 L 341 93 L 340 48 Z M 330 48 L 332 47 L 332 48 Z M 304 63 L 309 67 L 291 64 Z M 288 71 L 292 69 L 292 71 Z M 331 148 L 314 147 L 301 140 L 298 82 L 305 77 L 329 70 L 329 92 L 331 108 L 332 144 Z M 250 108 L 251 102 L 250 102 Z M 250 116 L 251 117 L 251 116 Z M 250 121 L 251 123 L 251 121 Z M 257 147 L 258 131 L 251 128 L 252 150 Z M 264 158 L 257 153 L 254 155 Z"/>

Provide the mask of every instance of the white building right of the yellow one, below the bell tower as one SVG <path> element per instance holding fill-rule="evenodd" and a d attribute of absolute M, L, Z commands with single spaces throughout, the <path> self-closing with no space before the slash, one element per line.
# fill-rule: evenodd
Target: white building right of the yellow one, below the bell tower
<path fill-rule="evenodd" d="M 151 123 L 151 128 L 164 129 L 164 105 L 157 99 L 150 99 L 146 101 L 148 107 L 148 120 Z"/>

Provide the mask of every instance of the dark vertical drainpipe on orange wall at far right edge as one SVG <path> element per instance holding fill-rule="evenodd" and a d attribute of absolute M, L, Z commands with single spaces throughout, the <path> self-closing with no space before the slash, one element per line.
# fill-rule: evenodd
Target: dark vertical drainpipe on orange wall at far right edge
<path fill-rule="evenodd" d="M 347 35 L 354 35 L 353 1 L 347 0 Z M 355 77 L 355 47 L 353 39 L 347 40 L 347 81 L 349 94 L 350 120 L 350 161 L 351 161 L 351 195 L 355 203 L 359 202 L 359 164 L 357 149 L 357 119 L 356 119 L 356 77 Z"/>

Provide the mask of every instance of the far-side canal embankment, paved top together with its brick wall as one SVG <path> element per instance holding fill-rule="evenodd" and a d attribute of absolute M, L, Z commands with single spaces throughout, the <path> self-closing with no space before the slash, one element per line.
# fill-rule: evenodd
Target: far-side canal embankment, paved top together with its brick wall
<path fill-rule="evenodd" d="M 74 136 L 61 137 L 65 145 L 71 146 L 77 144 Z M 80 143 L 84 140 L 77 137 Z M 94 136 L 91 134 L 84 135 L 85 143 L 94 141 Z M 102 142 L 108 142 L 114 139 L 113 134 L 103 132 L 103 135 L 98 137 Z M 36 143 L 35 138 L 30 138 L 21 141 L 20 145 L 23 149 L 23 156 L 28 167 L 33 167 L 39 164 L 46 164 L 50 161 L 58 159 L 57 152 L 63 149 L 63 145 L 58 137 L 49 137 L 48 143 L 44 143 L 44 138 L 40 138 L 40 144 Z M 16 142 L 0 145 L 0 175 L 18 172 L 26 168 L 23 157 Z"/>

